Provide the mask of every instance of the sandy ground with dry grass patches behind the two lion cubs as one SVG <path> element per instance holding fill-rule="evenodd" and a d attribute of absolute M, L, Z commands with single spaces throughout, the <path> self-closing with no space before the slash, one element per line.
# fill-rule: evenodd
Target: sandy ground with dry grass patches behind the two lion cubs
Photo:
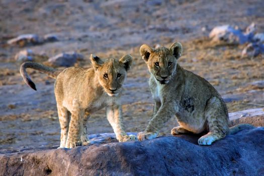
<path fill-rule="evenodd" d="M 25 85 L 14 59 L 25 48 L 47 56 L 80 52 L 85 60 L 78 66 L 89 65 L 91 53 L 102 58 L 131 54 L 134 64 L 122 97 L 127 131 L 144 130 L 152 114 L 149 73 L 139 55 L 144 43 L 169 46 L 180 41 L 180 65 L 211 82 L 228 102 L 229 112 L 264 107 L 264 87 L 251 84 L 264 79 L 263 56 L 241 58 L 245 45 L 208 39 L 210 30 L 223 24 L 244 29 L 254 22 L 263 32 L 263 1 L 3 0 L 0 7 L 0 150 L 59 145 L 54 80 L 29 70 L 38 91 Z M 59 41 L 23 48 L 7 45 L 8 39 L 27 33 L 55 34 Z M 161 135 L 169 135 L 176 125 L 171 119 Z M 89 134 L 113 132 L 105 110 L 92 115 L 87 127 Z"/>

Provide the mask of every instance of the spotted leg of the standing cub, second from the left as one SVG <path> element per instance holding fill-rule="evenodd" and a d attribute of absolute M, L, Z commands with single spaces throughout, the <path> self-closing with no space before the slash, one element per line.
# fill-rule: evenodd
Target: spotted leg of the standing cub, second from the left
<path fill-rule="evenodd" d="M 72 101 L 72 110 L 70 111 L 71 118 L 69 123 L 68 138 L 66 141 L 66 148 L 74 148 L 81 146 L 81 134 L 83 132 L 83 116 L 84 110 L 80 108 L 77 100 Z"/>

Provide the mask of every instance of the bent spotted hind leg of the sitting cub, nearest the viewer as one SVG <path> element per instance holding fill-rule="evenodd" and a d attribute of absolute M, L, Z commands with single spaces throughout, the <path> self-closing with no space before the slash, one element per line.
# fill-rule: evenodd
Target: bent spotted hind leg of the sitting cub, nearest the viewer
<path fill-rule="evenodd" d="M 213 97 L 207 102 L 205 117 L 209 133 L 198 140 L 199 145 L 211 145 L 224 138 L 229 131 L 226 105 L 220 99 Z"/>

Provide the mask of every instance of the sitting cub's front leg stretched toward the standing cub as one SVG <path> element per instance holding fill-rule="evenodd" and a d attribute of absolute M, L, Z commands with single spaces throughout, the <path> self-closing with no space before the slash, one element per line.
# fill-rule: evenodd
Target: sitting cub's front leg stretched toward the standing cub
<path fill-rule="evenodd" d="M 155 107 L 154 107 L 155 108 Z M 154 109 L 155 110 L 155 109 Z M 154 113 L 154 112 L 153 112 Z M 173 115 L 175 114 L 175 109 L 173 105 L 162 104 L 159 110 L 153 118 L 150 120 L 145 131 L 138 133 L 137 138 L 139 141 L 146 139 L 153 139 L 157 137 L 159 130 Z"/>

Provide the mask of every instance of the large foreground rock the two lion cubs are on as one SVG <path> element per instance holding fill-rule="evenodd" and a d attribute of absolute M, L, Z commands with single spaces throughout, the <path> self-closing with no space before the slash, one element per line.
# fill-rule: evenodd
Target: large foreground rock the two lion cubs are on
<path fill-rule="evenodd" d="M 263 175 L 264 128 L 197 145 L 199 136 L 0 154 L 1 175 Z"/>

